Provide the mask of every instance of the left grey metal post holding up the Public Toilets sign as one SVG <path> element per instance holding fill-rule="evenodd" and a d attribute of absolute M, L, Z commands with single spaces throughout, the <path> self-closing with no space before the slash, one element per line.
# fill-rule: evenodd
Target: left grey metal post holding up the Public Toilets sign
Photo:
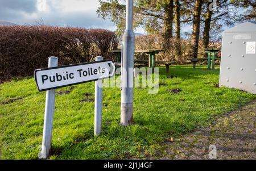
<path fill-rule="evenodd" d="M 48 67 L 58 65 L 58 58 L 49 57 Z M 49 150 L 52 145 L 52 126 L 53 126 L 53 113 L 55 108 L 55 90 L 46 91 L 46 109 L 44 111 L 44 130 L 41 157 L 46 159 L 49 155 Z"/>

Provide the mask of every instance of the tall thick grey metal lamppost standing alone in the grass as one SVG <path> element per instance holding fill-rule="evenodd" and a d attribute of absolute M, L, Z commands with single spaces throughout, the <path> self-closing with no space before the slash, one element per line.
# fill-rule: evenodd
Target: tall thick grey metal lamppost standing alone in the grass
<path fill-rule="evenodd" d="M 133 69 L 134 69 L 133 0 L 126 1 L 126 30 L 122 44 L 121 124 L 133 122 Z"/>

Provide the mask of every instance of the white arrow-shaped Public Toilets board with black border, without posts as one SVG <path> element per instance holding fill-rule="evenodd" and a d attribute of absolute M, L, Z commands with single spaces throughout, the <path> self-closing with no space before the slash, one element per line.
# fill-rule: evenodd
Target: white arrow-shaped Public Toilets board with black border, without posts
<path fill-rule="evenodd" d="M 39 91 L 82 84 L 113 77 L 115 65 L 112 60 L 36 69 L 34 76 Z"/>

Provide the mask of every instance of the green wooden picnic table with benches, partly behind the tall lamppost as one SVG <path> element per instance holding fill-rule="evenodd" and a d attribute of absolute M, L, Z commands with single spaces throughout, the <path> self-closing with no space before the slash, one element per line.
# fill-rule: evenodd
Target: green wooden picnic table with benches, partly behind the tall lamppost
<path fill-rule="evenodd" d="M 148 67 L 152 68 L 154 71 L 155 64 L 164 64 L 166 65 L 166 72 L 168 73 L 170 65 L 175 64 L 176 61 L 155 61 L 155 55 L 162 51 L 162 49 L 135 50 L 135 53 L 146 53 L 148 55 L 148 60 L 134 60 L 134 65 L 143 66 L 143 64 L 148 64 Z M 118 66 L 121 66 L 122 49 L 115 49 L 111 52 L 117 55 L 117 64 Z"/>

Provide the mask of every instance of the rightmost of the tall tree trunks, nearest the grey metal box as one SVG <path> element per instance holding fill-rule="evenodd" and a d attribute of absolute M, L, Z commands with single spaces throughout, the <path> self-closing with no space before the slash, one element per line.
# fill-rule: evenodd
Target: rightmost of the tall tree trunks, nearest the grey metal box
<path fill-rule="evenodd" d="M 204 34 L 203 34 L 203 44 L 204 48 L 207 49 L 209 45 L 209 34 L 210 34 L 210 22 L 212 20 L 212 11 L 209 10 L 210 2 L 208 2 L 208 10 L 205 16 Z"/>

